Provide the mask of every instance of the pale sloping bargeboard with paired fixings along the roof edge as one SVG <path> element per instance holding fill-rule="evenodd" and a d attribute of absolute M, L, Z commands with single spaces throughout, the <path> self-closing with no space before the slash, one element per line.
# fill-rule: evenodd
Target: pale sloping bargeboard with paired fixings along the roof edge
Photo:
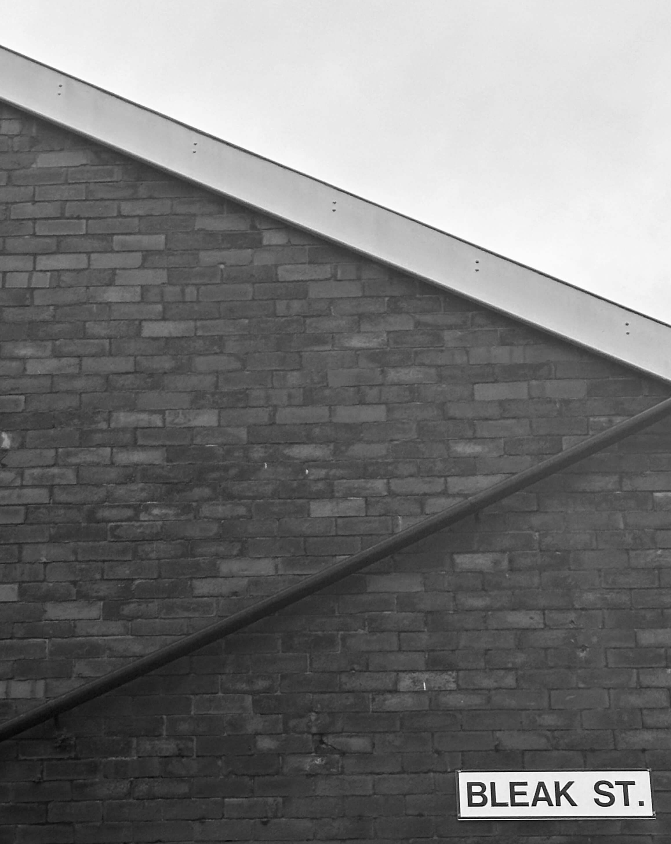
<path fill-rule="evenodd" d="M 0 99 L 404 273 L 671 381 L 669 327 L 0 47 Z"/>

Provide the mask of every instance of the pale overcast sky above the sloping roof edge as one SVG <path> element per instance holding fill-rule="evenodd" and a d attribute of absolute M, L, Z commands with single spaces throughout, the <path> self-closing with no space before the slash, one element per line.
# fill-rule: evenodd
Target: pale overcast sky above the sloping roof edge
<path fill-rule="evenodd" d="M 671 322 L 669 0 L 0 0 L 0 44 Z"/>

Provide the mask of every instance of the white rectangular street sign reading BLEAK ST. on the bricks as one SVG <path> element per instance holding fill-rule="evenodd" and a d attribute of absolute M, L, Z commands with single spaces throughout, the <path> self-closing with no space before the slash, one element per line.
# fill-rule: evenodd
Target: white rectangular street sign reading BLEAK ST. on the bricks
<path fill-rule="evenodd" d="M 459 820 L 653 818 L 650 771 L 457 771 Z"/>

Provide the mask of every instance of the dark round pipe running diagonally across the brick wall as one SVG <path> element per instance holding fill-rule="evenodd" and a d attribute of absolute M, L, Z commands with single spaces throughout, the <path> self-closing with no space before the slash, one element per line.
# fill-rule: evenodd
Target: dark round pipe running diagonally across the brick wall
<path fill-rule="evenodd" d="M 648 408 L 630 419 L 625 419 L 624 422 L 613 425 L 600 434 L 565 449 L 564 452 L 549 457 L 532 468 L 525 469 L 523 472 L 517 473 L 511 478 L 506 478 L 498 484 L 493 484 L 489 489 L 479 492 L 477 495 L 472 495 L 459 504 L 436 513 L 435 516 L 424 519 L 422 522 L 417 522 L 411 527 L 407 527 L 405 530 L 372 545 L 371 548 L 360 551 L 359 554 L 354 554 L 346 560 L 329 565 L 322 571 L 304 578 L 299 583 L 287 587 L 269 598 L 264 598 L 247 609 L 241 609 L 240 612 L 230 615 L 227 619 L 217 621 L 214 625 L 209 625 L 189 636 L 183 636 L 181 639 L 171 642 L 170 645 L 134 660 L 133 663 L 117 668 L 109 674 L 104 674 L 89 683 L 82 684 L 65 695 L 60 695 L 41 706 L 36 706 L 35 709 L 24 712 L 24 714 L 0 726 L 0 741 L 12 738 L 19 733 L 23 733 L 24 730 L 49 721 L 62 712 L 100 697 L 100 695 L 105 695 L 108 691 L 118 689 L 132 680 L 142 677 L 143 674 L 149 674 L 155 668 L 161 668 L 180 657 L 187 656 L 198 648 L 222 639 L 236 630 L 241 630 L 241 628 L 266 618 L 280 609 L 289 607 L 292 603 L 343 580 L 344 577 L 354 574 L 355 571 L 360 571 L 368 565 L 384 560 L 386 557 L 408 548 L 409 545 L 418 542 L 419 539 L 424 539 L 468 516 L 473 516 L 484 507 L 495 504 L 496 501 L 507 498 L 539 480 L 548 478 L 550 475 L 559 472 L 560 469 L 567 468 L 584 457 L 600 452 L 607 446 L 614 445 L 626 436 L 630 436 L 630 434 L 634 434 L 636 431 L 647 428 L 654 422 L 663 419 L 668 414 L 671 414 L 671 398 L 667 398 L 652 408 Z"/>

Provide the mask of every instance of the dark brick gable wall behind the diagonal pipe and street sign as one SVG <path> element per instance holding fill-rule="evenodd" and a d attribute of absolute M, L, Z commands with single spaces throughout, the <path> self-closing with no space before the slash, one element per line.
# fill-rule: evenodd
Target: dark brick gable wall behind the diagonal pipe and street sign
<path fill-rule="evenodd" d="M 668 393 L 0 111 L 0 716 Z M 1 844 L 671 836 L 671 426 L 0 746 Z M 651 767 L 468 823 L 457 768 Z"/>

